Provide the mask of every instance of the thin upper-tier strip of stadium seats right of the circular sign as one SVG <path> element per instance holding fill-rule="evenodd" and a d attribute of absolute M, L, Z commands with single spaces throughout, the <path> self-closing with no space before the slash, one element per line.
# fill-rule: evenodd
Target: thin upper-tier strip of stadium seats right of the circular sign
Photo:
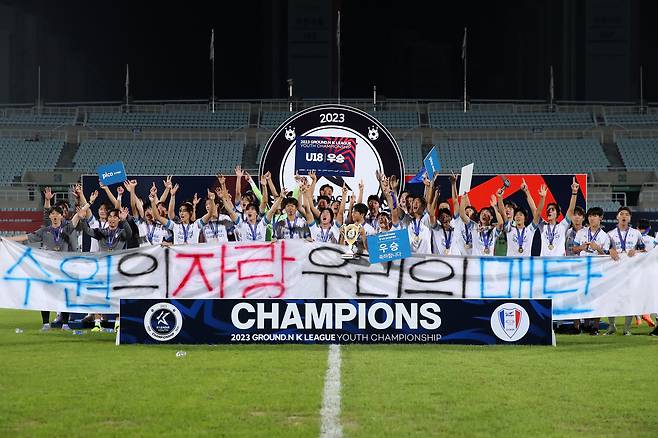
<path fill-rule="evenodd" d="M 489 111 L 430 111 L 429 122 L 437 129 L 583 128 L 596 124 L 591 113 Z"/>

